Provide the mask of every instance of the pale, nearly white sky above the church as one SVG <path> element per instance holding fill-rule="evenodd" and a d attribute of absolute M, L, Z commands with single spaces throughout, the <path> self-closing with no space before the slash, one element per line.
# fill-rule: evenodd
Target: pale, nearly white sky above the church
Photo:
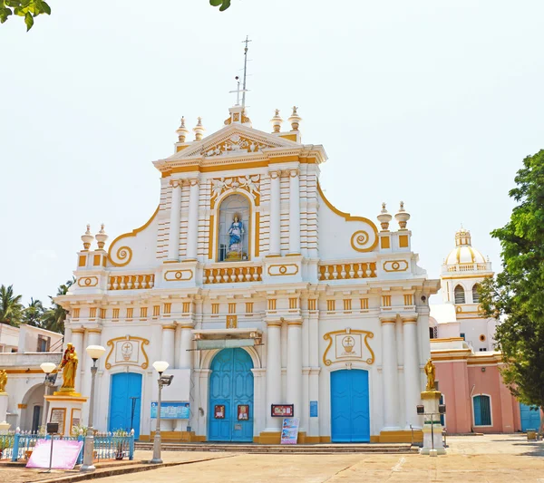
<path fill-rule="evenodd" d="M 247 34 L 253 127 L 298 106 L 336 208 L 375 221 L 403 200 L 433 278 L 461 223 L 500 269 L 490 232 L 544 148 L 541 0 L 49 4 L 29 33 L 0 25 L 0 284 L 25 304 L 71 278 L 87 223 L 112 241 L 151 217 L 151 161 L 182 115 L 222 127 Z"/>

